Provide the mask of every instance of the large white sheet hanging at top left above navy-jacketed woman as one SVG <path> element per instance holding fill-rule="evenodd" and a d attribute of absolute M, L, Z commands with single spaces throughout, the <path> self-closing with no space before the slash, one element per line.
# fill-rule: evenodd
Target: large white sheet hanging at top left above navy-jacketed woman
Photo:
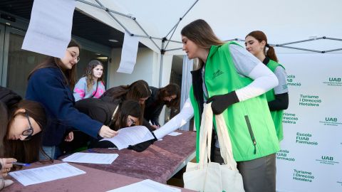
<path fill-rule="evenodd" d="M 21 48 L 63 58 L 71 40 L 75 5 L 76 1 L 71 0 L 34 0 Z"/>

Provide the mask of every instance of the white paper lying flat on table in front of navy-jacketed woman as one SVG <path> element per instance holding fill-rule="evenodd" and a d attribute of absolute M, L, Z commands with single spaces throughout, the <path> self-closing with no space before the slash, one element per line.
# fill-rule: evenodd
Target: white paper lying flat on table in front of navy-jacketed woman
<path fill-rule="evenodd" d="M 112 164 L 118 156 L 118 154 L 75 153 L 62 159 L 62 161 L 86 164 Z"/>

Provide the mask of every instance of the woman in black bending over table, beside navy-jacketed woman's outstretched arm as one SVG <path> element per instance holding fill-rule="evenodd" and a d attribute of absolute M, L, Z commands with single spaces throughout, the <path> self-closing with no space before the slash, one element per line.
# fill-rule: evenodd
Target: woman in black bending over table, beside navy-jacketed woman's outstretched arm
<path fill-rule="evenodd" d="M 76 108 L 115 131 L 142 124 L 142 110 L 139 102 L 135 100 L 120 102 L 120 100 L 113 100 L 112 97 L 88 98 L 76 102 Z M 98 142 L 98 140 L 93 140 L 90 148 L 115 147 L 112 142 Z"/>

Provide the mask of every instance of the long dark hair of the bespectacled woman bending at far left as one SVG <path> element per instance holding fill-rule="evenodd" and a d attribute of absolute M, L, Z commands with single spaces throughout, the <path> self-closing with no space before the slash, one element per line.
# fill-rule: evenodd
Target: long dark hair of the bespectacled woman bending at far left
<path fill-rule="evenodd" d="M 34 134 L 30 140 L 9 140 L 9 128 L 18 114 L 19 109 L 24 109 L 29 117 L 32 117 L 41 127 L 41 132 Z M 4 102 L 0 102 L 0 155 L 1 157 L 13 157 L 21 162 L 32 163 L 39 160 L 41 149 L 41 134 L 46 127 L 46 113 L 38 102 L 21 100 L 18 104 L 8 109 Z"/>

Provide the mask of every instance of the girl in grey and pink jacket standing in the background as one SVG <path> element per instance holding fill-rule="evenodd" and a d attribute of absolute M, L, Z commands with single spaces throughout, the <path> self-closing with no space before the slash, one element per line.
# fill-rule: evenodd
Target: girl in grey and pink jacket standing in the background
<path fill-rule="evenodd" d="M 94 97 L 99 98 L 105 92 L 103 82 L 103 64 L 98 60 L 91 60 L 88 63 L 86 74 L 78 80 L 73 89 L 75 101 Z"/>

